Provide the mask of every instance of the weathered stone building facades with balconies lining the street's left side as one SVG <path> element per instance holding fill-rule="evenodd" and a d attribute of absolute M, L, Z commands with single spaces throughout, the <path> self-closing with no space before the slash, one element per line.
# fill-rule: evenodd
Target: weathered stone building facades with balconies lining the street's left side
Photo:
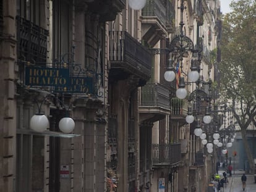
<path fill-rule="evenodd" d="M 203 50 L 216 48 L 214 2 L 185 1 L 185 35 L 195 44 L 205 36 Z M 205 156 L 185 122 L 188 102 L 163 77 L 180 3 L 0 1 L 1 191 L 206 188 L 210 156 L 195 165 Z M 207 57 L 202 65 L 213 78 Z M 49 120 L 45 131 L 31 129 L 35 114 Z M 72 132 L 59 128 L 63 117 L 74 120 Z"/>

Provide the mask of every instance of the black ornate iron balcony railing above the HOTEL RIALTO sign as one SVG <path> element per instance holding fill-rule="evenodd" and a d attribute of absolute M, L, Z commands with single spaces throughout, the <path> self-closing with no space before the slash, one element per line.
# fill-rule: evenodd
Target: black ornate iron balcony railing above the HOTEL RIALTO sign
<path fill-rule="evenodd" d="M 30 20 L 17 17 L 18 59 L 29 62 L 46 62 L 49 31 Z"/>

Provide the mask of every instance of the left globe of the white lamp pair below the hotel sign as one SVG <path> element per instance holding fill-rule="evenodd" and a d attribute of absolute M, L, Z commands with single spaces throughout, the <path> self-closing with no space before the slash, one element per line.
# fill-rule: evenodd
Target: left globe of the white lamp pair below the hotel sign
<path fill-rule="evenodd" d="M 49 127 L 49 120 L 44 114 L 35 114 L 30 119 L 30 128 L 37 132 L 43 132 Z"/>

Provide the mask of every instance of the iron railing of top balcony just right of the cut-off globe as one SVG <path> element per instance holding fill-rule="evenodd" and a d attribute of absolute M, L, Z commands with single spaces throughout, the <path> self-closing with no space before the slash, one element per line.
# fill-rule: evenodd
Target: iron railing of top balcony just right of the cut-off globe
<path fill-rule="evenodd" d="M 142 9 L 143 17 L 157 17 L 167 28 L 174 27 L 175 10 L 170 1 L 148 0 Z"/>

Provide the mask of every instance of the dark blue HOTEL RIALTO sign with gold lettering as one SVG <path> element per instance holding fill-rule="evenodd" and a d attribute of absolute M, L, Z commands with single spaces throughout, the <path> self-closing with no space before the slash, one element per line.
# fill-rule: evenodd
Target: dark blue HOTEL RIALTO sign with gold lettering
<path fill-rule="evenodd" d="M 56 92 L 93 94 L 92 77 L 73 77 L 68 68 L 26 67 L 25 85 L 47 86 Z"/>

